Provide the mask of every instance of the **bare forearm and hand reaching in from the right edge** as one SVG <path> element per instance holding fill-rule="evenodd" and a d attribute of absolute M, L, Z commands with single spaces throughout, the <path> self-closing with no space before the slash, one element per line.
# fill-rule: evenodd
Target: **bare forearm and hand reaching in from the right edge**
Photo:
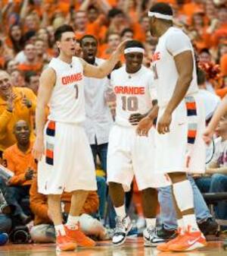
<path fill-rule="evenodd" d="M 207 128 L 204 131 L 204 141 L 206 142 L 206 144 L 210 144 L 215 128 L 219 124 L 219 121 L 222 118 L 222 116 L 226 114 L 226 112 L 227 112 L 227 96 L 225 96 L 225 98 L 219 104 L 218 108 L 216 109 L 216 112 L 214 113 L 212 119 L 210 120 L 209 125 L 207 125 Z"/>

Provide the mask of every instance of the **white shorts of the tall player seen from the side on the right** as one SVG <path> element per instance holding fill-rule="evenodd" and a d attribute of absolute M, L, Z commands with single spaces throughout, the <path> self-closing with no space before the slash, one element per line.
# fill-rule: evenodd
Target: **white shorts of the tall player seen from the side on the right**
<path fill-rule="evenodd" d="M 160 108 L 157 121 L 165 108 Z M 187 96 L 172 115 L 170 131 L 155 134 L 155 172 L 205 172 L 204 103 L 200 96 Z"/>

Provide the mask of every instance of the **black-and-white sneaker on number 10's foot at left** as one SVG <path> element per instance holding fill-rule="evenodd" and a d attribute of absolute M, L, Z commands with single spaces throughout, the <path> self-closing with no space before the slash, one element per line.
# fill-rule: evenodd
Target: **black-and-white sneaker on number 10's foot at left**
<path fill-rule="evenodd" d="M 126 235 L 132 229 L 132 220 L 129 216 L 125 216 L 123 219 L 120 216 L 116 217 L 116 228 L 114 229 L 113 234 L 113 245 L 123 245 L 126 241 Z"/>

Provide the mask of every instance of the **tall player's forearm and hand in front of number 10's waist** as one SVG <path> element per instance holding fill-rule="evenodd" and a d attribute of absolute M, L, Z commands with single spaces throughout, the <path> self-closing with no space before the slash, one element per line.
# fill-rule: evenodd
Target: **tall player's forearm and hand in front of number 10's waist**
<path fill-rule="evenodd" d="M 159 107 L 157 106 L 157 100 L 154 100 L 153 107 L 148 112 L 148 114 L 140 120 L 138 126 L 136 128 L 136 133 L 140 136 L 148 136 L 148 132 L 150 131 L 152 125 L 154 125 L 154 119 L 157 118 L 157 113 Z"/>

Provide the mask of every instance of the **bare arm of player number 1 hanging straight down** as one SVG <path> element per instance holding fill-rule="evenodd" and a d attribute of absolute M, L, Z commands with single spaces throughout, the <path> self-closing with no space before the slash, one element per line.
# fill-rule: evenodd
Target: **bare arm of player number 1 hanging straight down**
<path fill-rule="evenodd" d="M 39 79 L 39 92 L 36 105 L 36 141 L 33 146 L 33 156 L 36 160 L 41 160 L 44 153 L 43 128 L 45 125 L 45 107 L 50 100 L 55 81 L 56 76 L 52 68 L 43 71 Z"/>

